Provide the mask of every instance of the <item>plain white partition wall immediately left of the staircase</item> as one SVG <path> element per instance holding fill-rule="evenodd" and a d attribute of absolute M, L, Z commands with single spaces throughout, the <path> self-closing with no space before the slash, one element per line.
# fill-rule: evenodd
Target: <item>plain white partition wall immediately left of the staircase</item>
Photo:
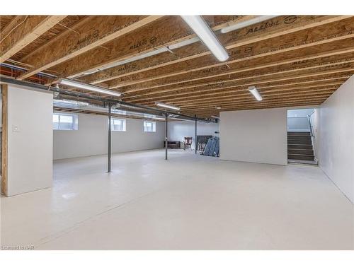
<path fill-rule="evenodd" d="M 287 165 L 287 110 L 220 112 L 220 159 Z"/>

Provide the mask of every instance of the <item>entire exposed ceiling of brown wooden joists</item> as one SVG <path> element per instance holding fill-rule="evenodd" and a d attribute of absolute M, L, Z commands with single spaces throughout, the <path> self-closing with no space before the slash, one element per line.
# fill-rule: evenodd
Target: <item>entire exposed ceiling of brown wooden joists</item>
<path fill-rule="evenodd" d="M 40 23 L 53 16 L 2 17 L 1 52 L 5 45 L 12 49 L 6 63 L 28 69 L 21 75 L 23 70 L 1 66 L 2 74 L 37 83 L 57 80 L 35 76 L 45 71 L 119 90 L 127 102 L 154 106 L 161 101 L 200 117 L 229 110 L 318 105 L 354 73 L 353 16 L 278 16 L 229 33 L 215 31 L 229 52 L 224 62 L 210 54 L 179 16 L 67 16 L 42 28 L 40 37 L 32 41 L 28 37 L 26 46 L 19 33 L 35 32 L 29 30 L 35 25 L 28 24 L 28 18 Z M 219 30 L 254 16 L 204 18 Z M 189 44 L 166 49 L 184 40 Z M 155 55 L 145 55 L 156 49 L 160 50 Z M 258 88 L 261 102 L 248 86 Z"/>

